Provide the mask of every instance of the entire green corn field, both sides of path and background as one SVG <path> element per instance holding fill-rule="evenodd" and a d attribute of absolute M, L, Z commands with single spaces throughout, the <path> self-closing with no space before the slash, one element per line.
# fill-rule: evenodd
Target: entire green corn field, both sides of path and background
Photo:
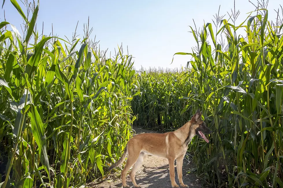
<path fill-rule="evenodd" d="M 283 187 L 283 23 L 264 5 L 240 25 L 234 12 L 190 27 L 196 47 L 175 54 L 192 58 L 187 68 L 135 71 L 89 26 L 82 39 L 40 35 L 39 1 L 31 16 L 3 3 L 25 28 L 0 23 L 0 187 L 83 188 L 120 158 L 133 125 L 175 130 L 198 108 L 213 134 L 189 144 L 189 172 L 208 187 Z"/>

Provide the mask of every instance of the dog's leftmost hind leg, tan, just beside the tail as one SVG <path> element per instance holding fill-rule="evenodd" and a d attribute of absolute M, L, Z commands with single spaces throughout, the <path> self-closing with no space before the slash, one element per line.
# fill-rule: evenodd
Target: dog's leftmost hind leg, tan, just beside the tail
<path fill-rule="evenodd" d="M 123 188 L 129 188 L 130 186 L 126 184 L 126 174 L 130 170 L 130 168 L 135 164 L 139 157 L 139 152 L 135 152 L 133 150 L 128 151 L 127 163 L 122 170 L 122 186 Z"/>

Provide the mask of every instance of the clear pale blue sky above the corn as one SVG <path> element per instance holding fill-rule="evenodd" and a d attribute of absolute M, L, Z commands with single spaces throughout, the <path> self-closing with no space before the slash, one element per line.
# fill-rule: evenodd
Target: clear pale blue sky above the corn
<path fill-rule="evenodd" d="M 20 0 L 18 0 L 21 4 Z M 256 3 L 256 0 L 252 0 Z M 275 18 L 274 9 L 279 7 L 278 0 L 269 1 L 269 18 Z M 2 1 L 0 2 L 2 4 Z M 21 4 L 22 5 L 22 4 Z M 44 34 L 53 31 L 59 37 L 66 35 L 71 39 L 77 21 L 79 21 L 77 34 L 83 34 L 83 24 L 90 16 L 90 26 L 93 27 L 92 37 L 100 40 L 100 48 L 114 48 L 123 43 L 124 49 L 129 48 L 135 60 L 136 69 L 141 66 L 148 67 L 181 67 L 190 60 L 189 56 L 172 56 L 176 52 L 191 52 L 196 45 L 189 25 L 193 26 L 193 19 L 197 27 L 204 22 L 212 22 L 213 15 L 230 12 L 234 7 L 234 0 L 41 0 L 37 19 L 38 30 L 41 33 L 44 21 Z M 23 8 L 24 9 L 24 8 Z M 241 14 L 238 23 L 245 20 L 246 13 L 254 10 L 248 0 L 236 0 L 236 10 Z M 6 0 L 1 10 L 0 19 L 3 21 L 3 10 L 6 20 L 21 31 L 21 16 Z"/>

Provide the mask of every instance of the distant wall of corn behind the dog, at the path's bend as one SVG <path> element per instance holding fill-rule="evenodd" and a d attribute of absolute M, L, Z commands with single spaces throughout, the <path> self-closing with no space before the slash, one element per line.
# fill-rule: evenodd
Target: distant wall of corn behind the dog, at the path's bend
<path fill-rule="evenodd" d="M 171 130 L 185 124 L 186 117 L 190 116 L 191 112 L 183 110 L 187 102 L 180 98 L 191 98 L 191 83 L 188 79 L 192 79 L 192 73 L 185 68 L 141 69 L 139 75 L 141 94 L 135 96 L 132 101 L 133 112 L 138 114 L 134 125 Z"/>

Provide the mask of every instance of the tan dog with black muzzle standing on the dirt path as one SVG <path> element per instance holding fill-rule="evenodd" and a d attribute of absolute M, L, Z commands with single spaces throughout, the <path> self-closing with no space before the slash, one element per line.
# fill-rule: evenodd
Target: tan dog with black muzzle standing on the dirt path
<path fill-rule="evenodd" d="M 175 181 L 175 167 L 174 162 L 177 163 L 178 179 L 181 187 L 188 187 L 183 183 L 182 165 L 183 158 L 187 152 L 188 145 L 191 139 L 198 135 L 208 143 L 208 139 L 204 134 L 211 134 L 212 131 L 207 128 L 204 121 L 201 119 L 202 112 L 198 110 L 192 119 L 188 121 L 181 128 L 163 134 L 159 133 L 143 133 L 133 136 L 126 145 L 126 149 L 122 157 L 110 166 L 109 171 L 112 168 L 116 168 L 125 160 L 128 154 L 127 164 L 122 170 L 122 185 L 123 187 L 130 187 L 126 184 L 126 174 L 128 170 L 133 166 L 129 175 L 135 187 L 141 187 L 137 185 L 135 181 L 135 173 L 142 166 L 142 163 L 146 157 L 146 154 L 155 155 L 168 159 L 169 171 L 172 187 L 179 187 Z"/>

